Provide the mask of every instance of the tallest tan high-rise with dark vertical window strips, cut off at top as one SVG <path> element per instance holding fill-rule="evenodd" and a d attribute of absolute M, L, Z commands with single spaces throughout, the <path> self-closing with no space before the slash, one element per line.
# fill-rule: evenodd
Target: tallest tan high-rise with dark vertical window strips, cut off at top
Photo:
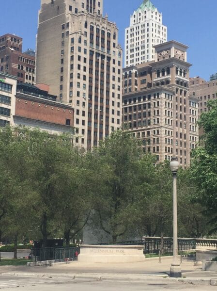
<path fill-rule="evenodd" d="M 121 127 L 122 49 L 103 0 L 41 0 L 36 82 L 75 108 L 76 145 Z"/>

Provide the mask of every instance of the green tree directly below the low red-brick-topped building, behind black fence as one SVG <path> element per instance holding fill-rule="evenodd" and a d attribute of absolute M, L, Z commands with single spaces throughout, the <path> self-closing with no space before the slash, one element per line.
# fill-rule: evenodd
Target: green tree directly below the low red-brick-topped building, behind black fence
<path fill-rule="evenodd" d="M 37 201 L 33 208 L 46 246 L 47 239 L 61 231 L 62 193 L 69 190 L 69 183 L 62 183 L 62 173 L 67 173 L 71 166 L 72 140 L 66 134 L 49 135 L 36 129 L 27 133 L 30 136 L 31 183 Z"/>

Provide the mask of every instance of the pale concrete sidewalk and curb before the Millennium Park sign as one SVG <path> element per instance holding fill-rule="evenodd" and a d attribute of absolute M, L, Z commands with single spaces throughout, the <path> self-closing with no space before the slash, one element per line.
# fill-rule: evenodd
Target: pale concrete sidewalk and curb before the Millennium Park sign
<path fill-rule="evenodd" d="M 146 259 L 137 263 L 100 264 L 70 263 L 55 264 L 53 267 L 0 267 L 2 275 L 37 276 L 37 277 L 72 277 L 72 278 L 94 278 L 98 280 L 130 280 L 145 281 L 147 277 L 155 276 L 165 279 L 169 278 L 172 257 L 158 259 Z M 202 266 L 194 266 L 194 260 L 183 259 L 182 278 L 179 281 L 195 285 L 217 285 L 217 272 L 202 271 Z M 10 271 L 9 271 L 10 270 Z"/>

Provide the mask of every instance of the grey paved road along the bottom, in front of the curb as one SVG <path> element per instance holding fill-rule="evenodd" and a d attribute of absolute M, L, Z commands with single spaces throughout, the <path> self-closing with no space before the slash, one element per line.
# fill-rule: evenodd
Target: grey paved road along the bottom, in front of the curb
<path fill-rule="evenodd" d="M 96 280 L 72 280 L 31 277 L 0 277 L 0 289 L 18 291 L 216 291 L 216 286 L 186 285 L 175 280 L 150 278 L 147 282 L 120 282 Z"/>

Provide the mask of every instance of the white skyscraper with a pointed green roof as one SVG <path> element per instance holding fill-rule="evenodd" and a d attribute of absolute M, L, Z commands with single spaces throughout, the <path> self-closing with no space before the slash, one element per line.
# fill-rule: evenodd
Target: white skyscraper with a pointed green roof
<path fill-rule="evenodd" d="M 155 45 L 167 41 L 167 27 L 162 24 L 162 14 L 150 0 L 143 0 L 130 16 L 130 26 L 125 29 L 124 66 L 139 65 L 155 59 Z"/>

